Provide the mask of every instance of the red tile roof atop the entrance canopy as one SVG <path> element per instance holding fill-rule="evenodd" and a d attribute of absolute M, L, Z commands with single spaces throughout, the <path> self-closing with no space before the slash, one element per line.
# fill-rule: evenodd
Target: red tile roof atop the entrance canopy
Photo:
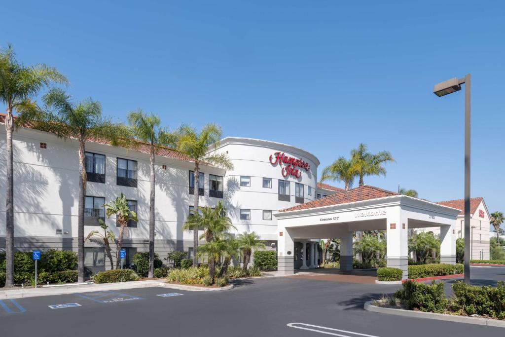
<path fill-rule="evenodd" d="M 309 208 L 323 207 L 323 206 L 331 206 L 331 205 L 339 205 L 339 204 L 347 204 L 353 203 L 357 201 L 371 200 L 371 199 L 379 199 L 391 196 L 397 196 L 398 194 L 392 191 L 388 191 L 386 189 L 382 189 L 379 187 L 364 185 L 356 188 L 349 189 L 348 191 L 343 191 L 325 198 L 321 198 L 318 200 L 311 201 L 306 204 L 297 205 L 294 207 L 286 208 L 280 210 L 279 212 L 287 212 L 287 211 L 297 211 L 297 210 L 306 210 Z"/>

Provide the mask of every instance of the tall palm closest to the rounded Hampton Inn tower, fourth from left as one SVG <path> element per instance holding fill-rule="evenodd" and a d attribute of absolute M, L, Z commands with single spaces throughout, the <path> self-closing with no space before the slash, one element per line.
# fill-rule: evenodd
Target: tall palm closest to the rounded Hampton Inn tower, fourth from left
<path fill-rule="evenodd" d="M 214 165 L 228 170 L 233 169 L 233 164 L 225 153 L 217 153 L 211 150 L 219 147 L 222 135 L 221 127 L 210 123 L 205 125 L 200 133 L 189 125 L 181 125 L 174 133 L 173 142 L 176 149 L 192 159 L 194 163 L 194 208 L 198 211 L 200 163 Z M 193 231 L 193 265 L 198 264 L 196 253 L 198 252 L 198 228 Z"/>

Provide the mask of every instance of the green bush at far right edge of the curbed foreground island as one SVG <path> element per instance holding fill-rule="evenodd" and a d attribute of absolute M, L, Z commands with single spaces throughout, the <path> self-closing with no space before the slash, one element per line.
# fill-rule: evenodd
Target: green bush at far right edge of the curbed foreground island
<path fill-rule="evenodd" d="M 456 297 L 452 310 L 467 315 L 489 315 L 505 319 L 505 282 L 498 281 L 497 286 L 468 285 L 462 281 L 452 284 Z"/>

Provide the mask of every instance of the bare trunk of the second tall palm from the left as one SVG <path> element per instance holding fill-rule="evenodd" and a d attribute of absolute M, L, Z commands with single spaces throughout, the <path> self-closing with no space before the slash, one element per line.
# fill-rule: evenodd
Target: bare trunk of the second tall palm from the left
<path fill-rule="evenodd" d="M 84 141 L 79 141 L 79 204 L 77 208 L 78 282 L 84 282 L 84 202 L 86 198 L 86 171 L 84 169 Z"/>

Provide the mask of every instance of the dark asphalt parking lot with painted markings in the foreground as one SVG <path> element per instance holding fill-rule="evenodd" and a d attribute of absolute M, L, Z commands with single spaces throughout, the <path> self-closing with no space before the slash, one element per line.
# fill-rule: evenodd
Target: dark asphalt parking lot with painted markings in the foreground
<path fill-rule="evenodd" d="M 477 282 L 505 279 L 505 268 L 472 267 Z M 452 280 L 446 280 L 447 284 Z M 296 277 L 245 279 L 225 292 L 164 287 L 3 300 L 5 336 L 111 334 L 187 336 L 503 336 L 505 329 L 399 317 L 363 310 L 394 292 L 379 285 Z"/>

